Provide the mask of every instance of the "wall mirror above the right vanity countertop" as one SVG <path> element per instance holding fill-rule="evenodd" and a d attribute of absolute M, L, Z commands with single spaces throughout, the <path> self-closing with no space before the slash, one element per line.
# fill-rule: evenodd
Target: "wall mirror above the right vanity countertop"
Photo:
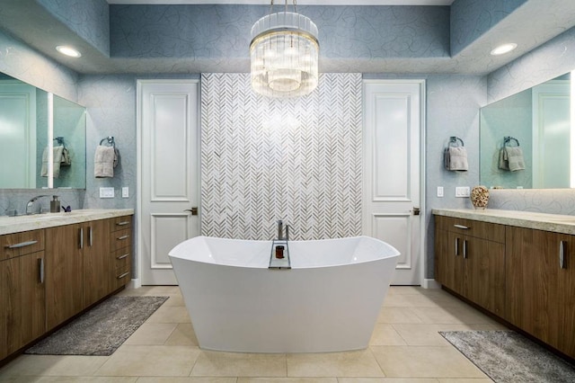
<path fill-rule="evenodd" d="M 481 109 L 482 185 L 505 189 L 575 185 L 571 77 L 559 76 Z"/>

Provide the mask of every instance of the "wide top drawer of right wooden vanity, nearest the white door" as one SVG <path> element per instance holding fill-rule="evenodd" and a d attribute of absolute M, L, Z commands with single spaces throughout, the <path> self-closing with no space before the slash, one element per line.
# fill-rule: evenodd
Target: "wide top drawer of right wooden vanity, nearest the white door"
<path fill-rule="evenodd" d="M 476 221 L 473 219 L 454 217 L 435 217 L 438 228 L 464 236 L 487 239 L 488 241 L 505 243 L 505 225 L 491 222 Z"/>

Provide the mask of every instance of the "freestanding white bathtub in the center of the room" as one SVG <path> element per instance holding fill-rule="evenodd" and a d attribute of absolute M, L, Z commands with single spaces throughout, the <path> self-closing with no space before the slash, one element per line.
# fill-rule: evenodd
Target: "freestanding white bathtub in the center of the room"
<path fill-rule="evenodd" d="M 272 270 L 271 245 L 197 236 L 172 249 L 199 347 L 228 352 L 365 349 L 399 252 L 368 236 L 289 241 L 292 268 Z"/>

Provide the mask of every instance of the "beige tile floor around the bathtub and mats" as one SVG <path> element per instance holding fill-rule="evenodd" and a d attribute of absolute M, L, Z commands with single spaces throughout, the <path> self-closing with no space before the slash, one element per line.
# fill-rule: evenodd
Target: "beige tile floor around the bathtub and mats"
<path fill-rule="evenodd" d="M 180 289 L 122 295 L 170 298 L 111 356 L 22 355 L 0 382 L 486 383 L 438 331 L 501 325 L 438 289 L 391 287 L 367 350 L 257 354 L 200 350 Z"/>

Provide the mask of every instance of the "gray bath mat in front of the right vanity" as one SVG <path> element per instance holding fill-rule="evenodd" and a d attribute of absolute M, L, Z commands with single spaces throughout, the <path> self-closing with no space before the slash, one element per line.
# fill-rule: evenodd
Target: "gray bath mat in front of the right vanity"
<path fill-rule="evenodd" d="M 575 366 L 514 331 L 439 334 L 497 383 L 575 381 Z"/>

